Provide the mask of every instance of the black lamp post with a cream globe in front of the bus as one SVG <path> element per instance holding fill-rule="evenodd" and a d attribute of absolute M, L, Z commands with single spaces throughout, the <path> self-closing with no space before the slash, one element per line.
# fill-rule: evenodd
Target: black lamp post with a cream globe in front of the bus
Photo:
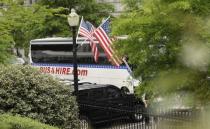
<path fill-rule="evenodd" d="M 71 13 L 68 15 L 68 23 L 72 30 L 73 37 L 73 68 L 74 68 L 74 92 L 78 94 L 78 73 L 77 73 L 77 46 L 76 46 L 76 27 L 79 24 L 79 15 L 74 9 L 71 9 Z"/>

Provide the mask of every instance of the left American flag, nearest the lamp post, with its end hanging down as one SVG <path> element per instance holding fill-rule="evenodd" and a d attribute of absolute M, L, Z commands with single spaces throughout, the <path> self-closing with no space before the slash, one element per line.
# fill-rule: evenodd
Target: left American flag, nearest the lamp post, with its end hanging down
<path fill-rule="evenodd" d="M 78 34 L 90 40 L 90 47 L 94 56 L 94 60 L 95 62 L 98 62 L 99 51 L 96 46 L 96 43 L 94 42 L 93 31 L 94 31 L 94 26 L 89 22 L 85 22 L 82 17 Z"/>

